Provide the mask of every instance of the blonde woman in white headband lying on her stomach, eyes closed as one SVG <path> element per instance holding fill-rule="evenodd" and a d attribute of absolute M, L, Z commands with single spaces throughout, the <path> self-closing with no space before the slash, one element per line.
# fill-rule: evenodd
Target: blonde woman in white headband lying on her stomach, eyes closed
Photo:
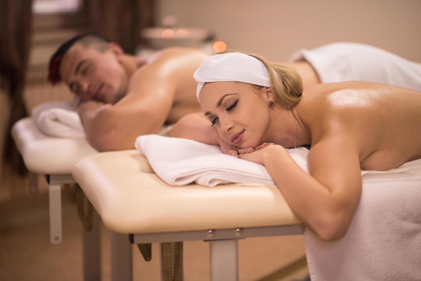
<path fill-rule="evenodd" d="M 222 139 L 238 147 L 237 157 L 264 165 L 296 216 L 323 240 L 345 235 L 360 201 L 360 169 L 421 158 L 421 92 L 357 81 L 303 92 L 295 70 L 240 52 L 210 56 L 194 78 L 208 125 L 187 138 Z M 284 148 L 301 145 L 311 145 L 310 174 Z"/>

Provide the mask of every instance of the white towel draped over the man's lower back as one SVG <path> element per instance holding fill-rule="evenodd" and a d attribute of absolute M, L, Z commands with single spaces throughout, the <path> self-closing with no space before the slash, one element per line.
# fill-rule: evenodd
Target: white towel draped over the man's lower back
<path fill-rule="evenodd" d="M 421 64 L 374 46 L 338 42 L 301 49 L 288 61 L 309 62 L 321 83 L 370 81 L 421 91 Z"/>

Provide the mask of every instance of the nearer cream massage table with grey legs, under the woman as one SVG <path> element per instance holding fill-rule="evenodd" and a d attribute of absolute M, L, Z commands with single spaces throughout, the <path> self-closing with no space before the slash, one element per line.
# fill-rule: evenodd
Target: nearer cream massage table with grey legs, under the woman
<path fill-rule="evenodd" d="M 131 243 L 208 241 L 210 279 L 229 281 L 238 239 L 304 233 L 277 187 L 170 186 L 137 150 L 87 156 L 72 176 L 112 231 L 112 280 L 132 280 Z"/>

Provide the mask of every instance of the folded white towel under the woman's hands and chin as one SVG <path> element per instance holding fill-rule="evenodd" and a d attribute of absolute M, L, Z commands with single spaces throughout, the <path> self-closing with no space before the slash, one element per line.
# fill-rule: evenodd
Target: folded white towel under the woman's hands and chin
<path fill-rule="evenodd" d="M 203 186 L 227 183 L 274 185 L 264 166 L 223 154 L 218 146 L 158 135 L 139 136 L 135 146 L 168 185 L 192 182 Z M 308 150 L 297 148 L 289 152 L 308 173 Z"/>

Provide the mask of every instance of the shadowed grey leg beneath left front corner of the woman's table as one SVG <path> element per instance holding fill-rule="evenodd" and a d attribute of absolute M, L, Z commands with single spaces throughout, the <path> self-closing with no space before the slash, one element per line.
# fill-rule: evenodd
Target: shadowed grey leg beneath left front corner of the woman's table
<path fill-rule="evenodd" d="M 132 245 L 128 234 L 111 231 L 111 280 L 132 280 Z"/>

